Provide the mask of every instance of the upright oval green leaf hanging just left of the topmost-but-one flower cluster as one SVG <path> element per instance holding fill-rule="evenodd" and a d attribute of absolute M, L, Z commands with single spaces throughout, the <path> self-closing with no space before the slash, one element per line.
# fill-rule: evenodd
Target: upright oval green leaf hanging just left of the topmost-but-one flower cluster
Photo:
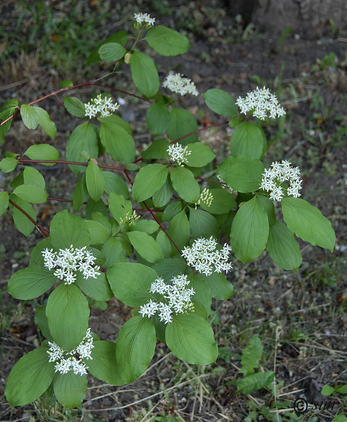
<path fill-rule="evenodd" d="M 136 88 L 146 97 L 152 97 L 158 92 L 158 71 L 153 60 L 147 54 L 134 51 L 130 62 L 130 71 Z"/>

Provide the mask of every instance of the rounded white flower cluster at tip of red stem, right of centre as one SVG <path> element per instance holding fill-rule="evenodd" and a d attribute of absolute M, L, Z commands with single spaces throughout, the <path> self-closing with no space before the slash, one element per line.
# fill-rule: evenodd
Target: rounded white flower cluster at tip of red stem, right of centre
<path fill-rule="evenodd" d="M 212 236 L 209 239 L 199 238 L 191 247 L 185 246 L 181 256 L 186 259 L 188 265 L 207 276 L 213 273 L 213 266 L 215 273 L 222 271 L 228 273 L 232 268 L 231 262 L 228 262 L 231 248 L 224 243 L 223 249 L 220 251 L 216 249 L 217 245 L 218 243 Z"/>

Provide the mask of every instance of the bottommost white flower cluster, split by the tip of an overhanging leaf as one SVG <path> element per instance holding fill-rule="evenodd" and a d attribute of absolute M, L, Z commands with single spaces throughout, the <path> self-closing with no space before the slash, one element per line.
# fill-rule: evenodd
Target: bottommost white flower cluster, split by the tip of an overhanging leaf
<path fill-rule="evenodd" d="M 78 373 L 82 376 L 87 373 L 88 366 L 86 367 L 83 359 L 91 359 L 91 349 L 94 348 L 93 336 L 88 328 L 86 335 L 83 337 L 81 343 L 71 352 L 65 352 L 54 341 L 48 341 L 50 348 L 47 350 L 49 354 L 49 362 L 56 362 L 54 365 L 55 372 L 65 374 L 73 371 L 75 375 Z M 77 353 L 79 359 L 76 359 L 73 354 Z"/>

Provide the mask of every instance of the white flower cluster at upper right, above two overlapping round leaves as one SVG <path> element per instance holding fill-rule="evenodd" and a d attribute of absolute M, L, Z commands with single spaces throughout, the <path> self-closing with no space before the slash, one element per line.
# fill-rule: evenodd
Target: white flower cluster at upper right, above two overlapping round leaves
<path fill-rule="evenodd" d="M 235 102 L 241 110 L 241 113 L 247 114 L 248 111 L 253 110 L 253 116 L 258 119 L 265 120 L 266 112 L 269 112 L 269 117 L 275 118 L 285 114 L 284 108 L 281 107 L 276 95 L 269 91 L 269 88 L 259 89 L 257 87 L 254 91 L 248 92 L 245 98 L 241 96 Z"/>

